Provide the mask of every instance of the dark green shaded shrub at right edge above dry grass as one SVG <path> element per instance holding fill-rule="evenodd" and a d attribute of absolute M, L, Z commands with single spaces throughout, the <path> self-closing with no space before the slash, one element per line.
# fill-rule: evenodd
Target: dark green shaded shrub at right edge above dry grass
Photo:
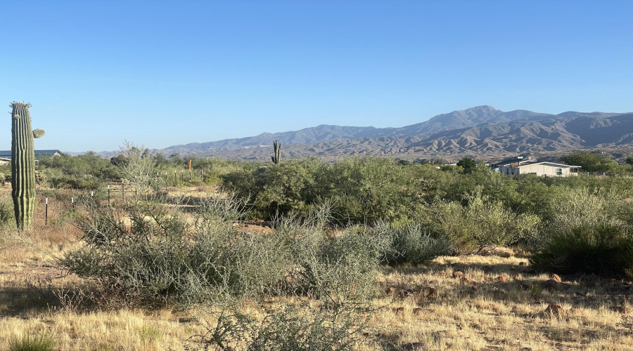
<path fill-rule="evenodd" d="M 633 268 L 633 239 L 615 225 L 577 226 L 552 235 L 530 262 L 561 274 L 623 275 Z"/>

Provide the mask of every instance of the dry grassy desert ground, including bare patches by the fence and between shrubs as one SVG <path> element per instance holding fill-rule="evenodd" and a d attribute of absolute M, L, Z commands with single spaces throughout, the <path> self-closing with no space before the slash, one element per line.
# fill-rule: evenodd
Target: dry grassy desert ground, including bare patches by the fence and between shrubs
<path fill-rule="evenodd" d="M 112 206 L 120 206 L 121 189 L 111 185 Z M 11 186 L 6 183 L 0 190 L 6 211 L 11 208 Z M 149 187 L 146 191 L 158 194 Z M 130 187 L 126 196 L 131 199 L 134 192 Z M 184 182 L 161 187 L 160 194 L 161 199 L 180 199 L 172 207 L 183 209 L 179 212 L 193 223 L 191 207 L 201 199 L 226 198 L 228 193 L 217 185 Z M 261 335 L 280 311 L 292 316 L 284 323 L 299 320 L 309 331 L 315 328 L 308 322 L 311 318 L 320 313 L 331 317 L 328 313 L 335 309 L 311 293 L 255 293 L 232 300 L 230 309 L 212 301 L 186 305 L 127 301 L 106 291 L 103 282 L 69 272 L 60 261 L 87 245 L 87 233 L 73 220 L 77 215 L 68 204 L 70 197 L 82 195 L 87 197 L 87 190 L 39 186 L 32 230 L 17 232 L 11 228 L 11 218 L 6 220 L 0 252 L 2 350 L 35 350 L 20 348 L 20 343 L 38 342 L 44 346 L 37 350 L 245 350 L 248 338 L 231 339 L 239 335 L 238 324 L 226 324 L 222 318 L 229 316 L 234 323 L 248 318 L 241 328 L 252 333 L 260 328 Z M 44 218 L 45 197 L 49 197 L 48 218 Z M 98 206 L 107 208 L 103 187 L 98 197 Z M 234 235 L 247 237 L 283 230 L 269 220 L 231 223 Z M 335 227 L 326 231 L 331 237 L 345 235 L 337 234 Z M 319 322 L 324 335 L 338 338 L 331 334 L 336 331 L 342 333 L 340 340 L 349 343 L 297 345 L 296 350 L 633 350 L 629 303 L 633 284 L 622 274 L 537 271 L 530 265 L 530 253 L 520 246 L 497 245 L 478 254 L 441 255 L 422 264 L 383 263 L 374 268 L 369 298 L 340 300 L 341 305 L 350 304 L 344 314 L 351 319 L 341 319 L 345 322 L 340 326 L 328 324 L 328 318 Z M 336 293 L 345 295 L 345 290 Z M 295 333 L 293 337 L 304 338 L 305 345 L 313 341 L 317 345 L 314 336 Z"/>

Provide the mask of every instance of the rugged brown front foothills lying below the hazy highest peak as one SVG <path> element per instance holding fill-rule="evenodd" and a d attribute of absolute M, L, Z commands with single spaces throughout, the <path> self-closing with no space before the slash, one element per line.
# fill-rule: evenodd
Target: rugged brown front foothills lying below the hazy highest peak
<path fill-rule="evenodd" d="M 518 115 L 518 114 L 517 114 Z M 523 114 L 524 116 L 526 114 Z M 574 118 L 573 116 L 580 115 Z M 605 115 L 605 114 L 602 114 Z M 284 157 L 375 155 L 405 159 L 447 155 L 513 154 L 581 150 L 587 147 L 633 147 L 633 114 L 587 117 L 587 114 L 529 114 L 528 119 L 442 131 L 431 135 L 388 136 L 329 140 L 321 143 L 287 145 Z M 545 118 L 548 116 L 548 118 Z M 536 117 L 532 121 L 530 118 Z M 219 157 L 267 161 L 271 147 L 233 150 Z"/>

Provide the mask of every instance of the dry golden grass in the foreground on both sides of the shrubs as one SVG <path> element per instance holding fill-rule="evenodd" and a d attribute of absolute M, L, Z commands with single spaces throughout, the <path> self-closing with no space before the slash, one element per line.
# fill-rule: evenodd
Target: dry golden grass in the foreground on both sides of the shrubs
<path fill-rule="evenodd" d="M 38 211 L 31 234 L 0 234 L 5 238 L 0 350 L 26 333 L 53 336 L 58 350 L 185 350 L 187 345 L 195 350 L 189 338 L 204 333 L 200 320 L 212 323 L 212 317 L 196 309 L 91 305 L 91 282 L 65 274 L 56 260 L 77 247 L 81 233 L 62 220 L 59 209 L 49 208 L 47 226 Z M 527 258 L 506 250 L 441 257 L 426 266 L 385 267 L 378 277 L 382 293 L 373 300 L 379 309 L 359 350 L 421 345 L 412 343 L 423 343 L 427 350 L 633 350 L 633 288 L 627 282 L 584 284 L 578 277 L 563 277 L 550 290 L 542 287 L 550 277 L 531 272 L 526 263 Z M 463 276 L 454 277 L 458 270 Z M 561 310 L 546 312 L 549 305 Z M 244 309 L 255 318 L 263 316 L 257 305 Z"/>

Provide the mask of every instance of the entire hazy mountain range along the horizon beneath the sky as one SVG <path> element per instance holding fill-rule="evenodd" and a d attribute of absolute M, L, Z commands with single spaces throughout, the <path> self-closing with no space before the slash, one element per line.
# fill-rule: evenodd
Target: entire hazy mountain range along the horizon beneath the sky
<path fill-rule="evenodd" d="M 283 145 L 282 159 L 335 159 L 357 154 L 401 159 L 458 155 L 548 153 L 633 147 L 633 112 L 504 112 L 491 106 L 439 114 L 399 128 L 321 125 L 300 131 L 175 145 L 152 150 L 167 156 L 217 156 L 269 161 L 272 142 Z M 108 156 L 108 155 L 105 155 Z"/>

